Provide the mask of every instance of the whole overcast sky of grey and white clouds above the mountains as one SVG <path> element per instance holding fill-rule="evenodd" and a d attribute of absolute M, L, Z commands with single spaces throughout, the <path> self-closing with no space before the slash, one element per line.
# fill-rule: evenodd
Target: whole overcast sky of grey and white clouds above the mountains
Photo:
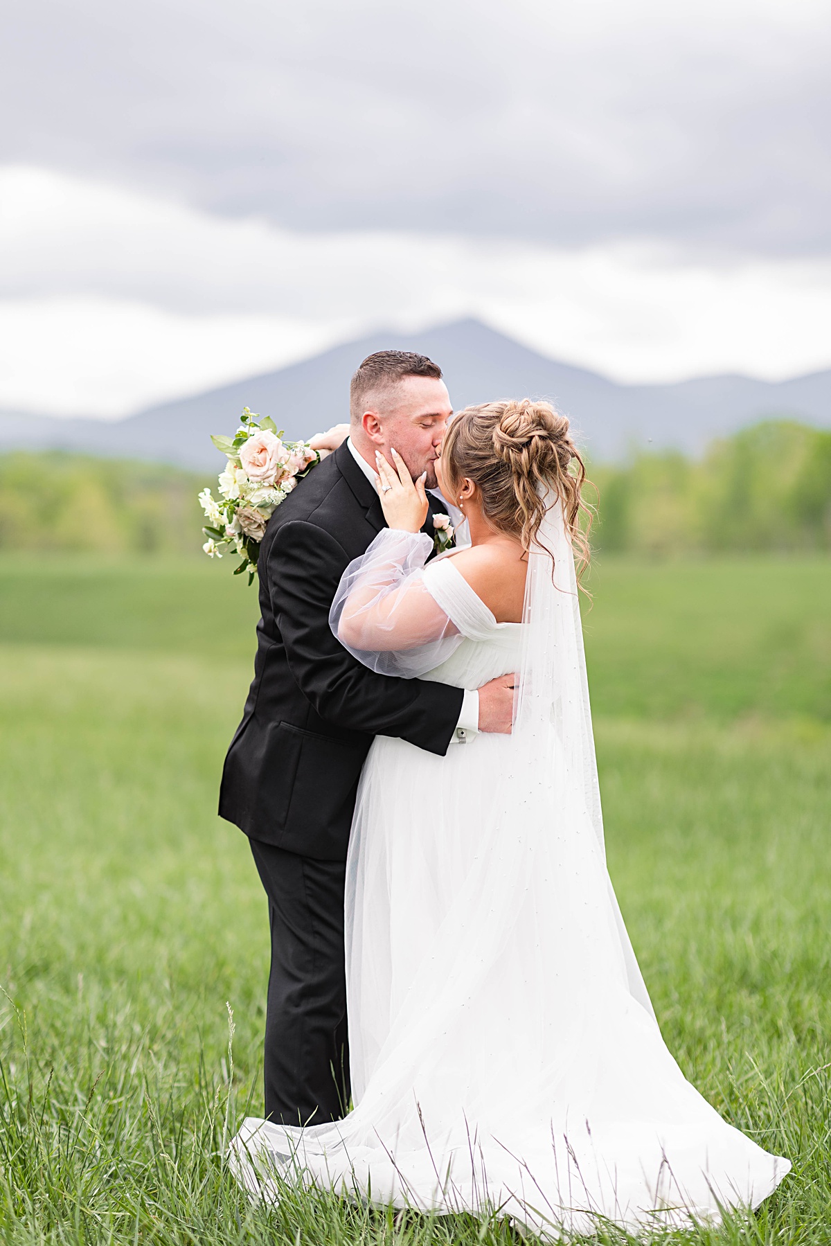
<path fill-rule="evenodd" d="M 831 0 L 26 0 L 0 406 L 476 314 L 618 380 L 831 366 Z"/>

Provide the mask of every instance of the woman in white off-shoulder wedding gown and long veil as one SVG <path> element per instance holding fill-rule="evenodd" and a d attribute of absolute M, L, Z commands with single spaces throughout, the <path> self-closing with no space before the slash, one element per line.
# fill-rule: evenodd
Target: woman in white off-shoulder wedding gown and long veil
<path fill-rule="evenodd" d="M 344 573 L 340 642 L 385 674 L 518 672 L 512 735 L 439 758 L 378 738 L 346 878 L 354 1110 L 245 1120 L 254 1194 L 498 1211 L 542 1236 L 718 1222 L 790 1169 L 728 1125 L 664 1045 L 607 873 L 577 599 L 583 465 L 543 402 L 467 407 L 440 485 L 471 546 L 427 563 L 424 483 L 379 462 L 389 528 Z"/>

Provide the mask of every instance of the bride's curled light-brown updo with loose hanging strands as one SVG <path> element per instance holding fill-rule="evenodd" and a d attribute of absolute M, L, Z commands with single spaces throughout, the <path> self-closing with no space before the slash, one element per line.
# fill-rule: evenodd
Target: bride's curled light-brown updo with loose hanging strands
<path fill-rule="evenodd" d="M 546 513 L 544 493 L 561 500 L 578 574 L 589 561 L 592 511 L 582 497 L 586 466 L 568 420 L 532 399 L 466 406 L 453 416 L 441 447 L 442 476 L 455 500 L 467 477 L 481 495 L 482 515 L 528 551 Z M 584 523 L 581 525 L 581 513 Z"/>

